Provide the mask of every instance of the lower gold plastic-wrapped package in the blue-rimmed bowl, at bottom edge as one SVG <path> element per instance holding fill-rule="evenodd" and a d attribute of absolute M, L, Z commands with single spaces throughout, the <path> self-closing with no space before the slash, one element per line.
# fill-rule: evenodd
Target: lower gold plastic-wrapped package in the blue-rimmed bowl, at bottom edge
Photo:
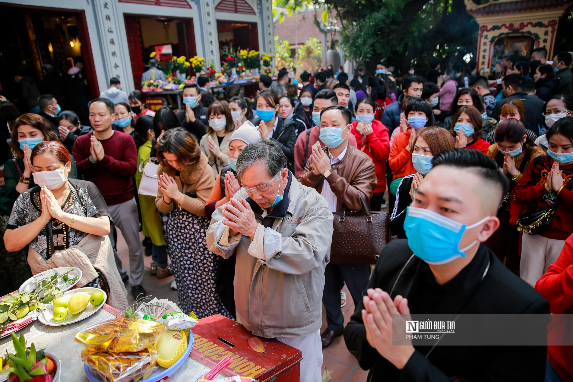
<path fill-rule="evenodd" d="M 87 348 L 81 352 L 81 359 L 104 382 L 139 381 L 158 368 L 158 353 L 153 345 L 136 353 L 107 353 Z"/>

